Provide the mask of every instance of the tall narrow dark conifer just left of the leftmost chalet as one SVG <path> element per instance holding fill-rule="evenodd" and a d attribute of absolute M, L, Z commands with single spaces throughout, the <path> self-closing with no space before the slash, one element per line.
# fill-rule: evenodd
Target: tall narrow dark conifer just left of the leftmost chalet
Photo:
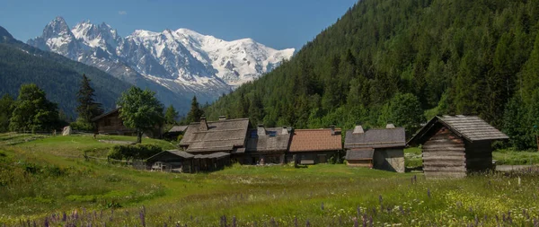
<path fill-rule="evenodd" d="M 78 107 L 76 108 L 76 112 L 84 123 L 91 122 L 92 118 L 102 115 L 103 113 L 102 104 L 93 100 L 95 90 L 93 90 L 92 86 L 90 85 L 90 81 L 91 80 L 88 79 L 85 74 L 83 74 L 81 87 L 79 92 L 76 93 L 79 103 Z"/>

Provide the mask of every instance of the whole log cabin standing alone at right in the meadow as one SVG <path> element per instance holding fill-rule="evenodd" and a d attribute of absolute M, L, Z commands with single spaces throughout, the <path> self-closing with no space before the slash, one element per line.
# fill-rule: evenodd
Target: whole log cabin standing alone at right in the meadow
<path fill-rule="evenodd" d="M 408 142 L 422 144 L 427 178 L 463 178 L 467 173 L 493 169 L 492 142 L 508 135 L 476 116 L 432 118 Z"/>

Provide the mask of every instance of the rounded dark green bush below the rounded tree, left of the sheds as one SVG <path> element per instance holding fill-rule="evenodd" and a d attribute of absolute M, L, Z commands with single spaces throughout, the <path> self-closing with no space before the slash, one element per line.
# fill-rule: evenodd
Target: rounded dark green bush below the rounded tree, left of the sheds
<path fill-rule="evenodd" d="M 115 145 L 110 148 L 109 159 L 115 160 L 144 160 L 157 153 L 163 152 L 161 147 L 155 144 Z"/>

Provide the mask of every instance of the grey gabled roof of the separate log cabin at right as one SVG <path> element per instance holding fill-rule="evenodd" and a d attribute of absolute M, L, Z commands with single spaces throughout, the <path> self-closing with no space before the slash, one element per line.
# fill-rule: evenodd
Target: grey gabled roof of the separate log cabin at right
<path fill-rule="evenodd" d="M 437 116 L 432 118 L 425 127 L 421 128 L 420 132 L 414 135 L 408 144 L 422 144 L 422 142 L 427 139 L 425 138 L 427 137 L 425 135 L 429 135 L 429 131 L 431 131 L 432 128 L 437 128 L 435 127 L 437 126 L 437 123 L 447 127 L 455 133 L 455 135 L 463 137 L 470 142 L 509 138 L 508 135 L 503 134 L 477 116 Z"/>

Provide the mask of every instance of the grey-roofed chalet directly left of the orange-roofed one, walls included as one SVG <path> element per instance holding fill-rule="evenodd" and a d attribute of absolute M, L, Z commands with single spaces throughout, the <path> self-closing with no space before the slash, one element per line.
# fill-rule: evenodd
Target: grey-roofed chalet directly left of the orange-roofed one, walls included
<path fill-rule="evenodd" d="M 287 127 L 265 128 L 259 125 L 250 129 L 243 164 L 282 164 L 290 143 L 290 131 Z"/>

